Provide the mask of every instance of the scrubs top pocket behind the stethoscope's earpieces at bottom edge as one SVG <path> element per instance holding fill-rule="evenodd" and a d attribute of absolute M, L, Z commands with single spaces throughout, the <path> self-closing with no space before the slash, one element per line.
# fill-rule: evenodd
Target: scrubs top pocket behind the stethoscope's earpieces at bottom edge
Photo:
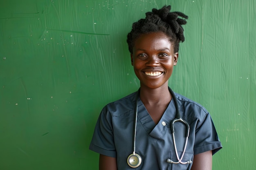
<path fill-rule="evenodd" d="M 182 152 L 178 152 L 178 155 L 181 157 Z M 171 151 L 171 160 L 174 162 L 178 162 L 179 160 L 177 159 L 175 151 Z M 184 156 L 182 158 L 182 162 L 186 161 L 192 161 L 193 163 L 193 154 L 191 153 L 184 153 Z M 192 167 L 192 163 L 171 163 L 171 170 L 190 170 Z"/>

